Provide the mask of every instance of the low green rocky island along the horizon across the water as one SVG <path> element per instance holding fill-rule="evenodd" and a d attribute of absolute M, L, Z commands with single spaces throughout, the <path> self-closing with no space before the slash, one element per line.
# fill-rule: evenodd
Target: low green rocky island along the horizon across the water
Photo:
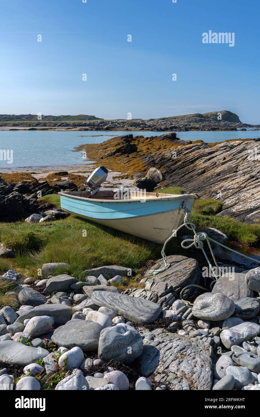
<path fill-rule="evenodd" d="M 240 121 L 238 115 L 227 110 L 194 113 L 155 119 L 104 120 L 96 116 L 44 116 L 32 114 L 0 115 L 0 128 L 75 129 L 97 131 L 235 131 L 260 128 Z"/>

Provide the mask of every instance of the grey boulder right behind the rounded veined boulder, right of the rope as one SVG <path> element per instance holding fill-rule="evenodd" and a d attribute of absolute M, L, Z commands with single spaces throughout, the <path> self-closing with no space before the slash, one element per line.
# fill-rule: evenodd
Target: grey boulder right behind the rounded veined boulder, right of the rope
<path fill-rule="evenodd" d="M 253 297 L 254 292 L 248 288 L 245 281 L 245 274 L 234 272 L 232 276 L 225 274 L 215 283 L 212 294 L 222 292 L 233 301 L 244 297 Z"/>

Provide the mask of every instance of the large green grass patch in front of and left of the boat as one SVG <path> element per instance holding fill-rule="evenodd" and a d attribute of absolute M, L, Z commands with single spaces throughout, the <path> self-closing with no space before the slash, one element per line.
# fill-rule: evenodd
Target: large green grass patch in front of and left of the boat
<path fill-rule="evenodd" d="M 50 223 L 2 223 L 2 241 L 13 242 L 18 256 L 11 266 L 28 269 L 30 276 L 47 262 L 67 262 L 66 271 L 82 277 L 82 271 L 101 265 L 122 265 L 139 269 L 160 256 L 160 245 L 76 216 Z M 33 234 L 36 239 L 28 241 Z M 9 244 L 9 247 L 13 246 Z M 10 265 L 9 265 L 10 266 Z"/>

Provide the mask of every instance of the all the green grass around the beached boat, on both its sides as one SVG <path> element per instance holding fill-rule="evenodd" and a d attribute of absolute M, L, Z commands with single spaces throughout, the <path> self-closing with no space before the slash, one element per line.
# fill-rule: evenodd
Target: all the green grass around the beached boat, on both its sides
<path fill-rule="evenodd" d="M 160 189 L 163 193 L 183 193 L 183 188 L 168 187 Z M 60 206 L 60 196 L 51 194 L 44 199 L 54 206 Z M 211 199 L 195 200 L 191 220 L 197 230 L 202 227 L 214 227 L 228 236 L 228 240 L 243 246 L 255 245 L 260 240 L 260 225 L 249 225 L 228 217 L 216 216 L 222 202 Z M 185 228 L 182 234 L 190 234 Z M 102 265 L 121 265 L 131 267 L 137 276 L 124 278 L 118 288 L 122 291 L 129 287 L 140 288 L 142 268 L 154 259 L 160 258 L 162 245 L 140 239 L 120 231 L 107 228 L 76 216 L 48 223 L 1 223 L 0 241 L 15 249 L 15 259 L 0 259 L 0 275 L 8 269 L 15 269 L 25 276 L 37 276 L 42 264 L 48 262 L 67 262 L 67 272 L 82 279 L 82 271 Z M 181 254 L 176 241 L 167 245 L 168 255 Z M 187 252 L 185 253 L 187 254 Z M 4 291 L 5 293 L 6 291 Z M 3 291 L 1 297 L 4 296 Z M 6 297 L 6 296 L 5 296 Z M 8 303 L 6 302 L 8 301 Z M 5 305 L 10 304 L 10 298 Z"/>

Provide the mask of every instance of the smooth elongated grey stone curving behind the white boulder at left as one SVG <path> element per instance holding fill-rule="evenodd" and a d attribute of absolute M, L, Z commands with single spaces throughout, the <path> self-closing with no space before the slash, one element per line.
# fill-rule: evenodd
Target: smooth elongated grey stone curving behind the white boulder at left
<path fill-rule="evenodd" d="M 35 316 L 52 316 L 55 324 L 62 326 L 70 320 L 71 315 L 71 307 L 65 304 L 42 304 L 41 306 L 34 307 L 32 310 L 25 311 L 25 313 L 18 317 L 16 322 L 23 323 L 25 319 L 31 319 Z"/>

